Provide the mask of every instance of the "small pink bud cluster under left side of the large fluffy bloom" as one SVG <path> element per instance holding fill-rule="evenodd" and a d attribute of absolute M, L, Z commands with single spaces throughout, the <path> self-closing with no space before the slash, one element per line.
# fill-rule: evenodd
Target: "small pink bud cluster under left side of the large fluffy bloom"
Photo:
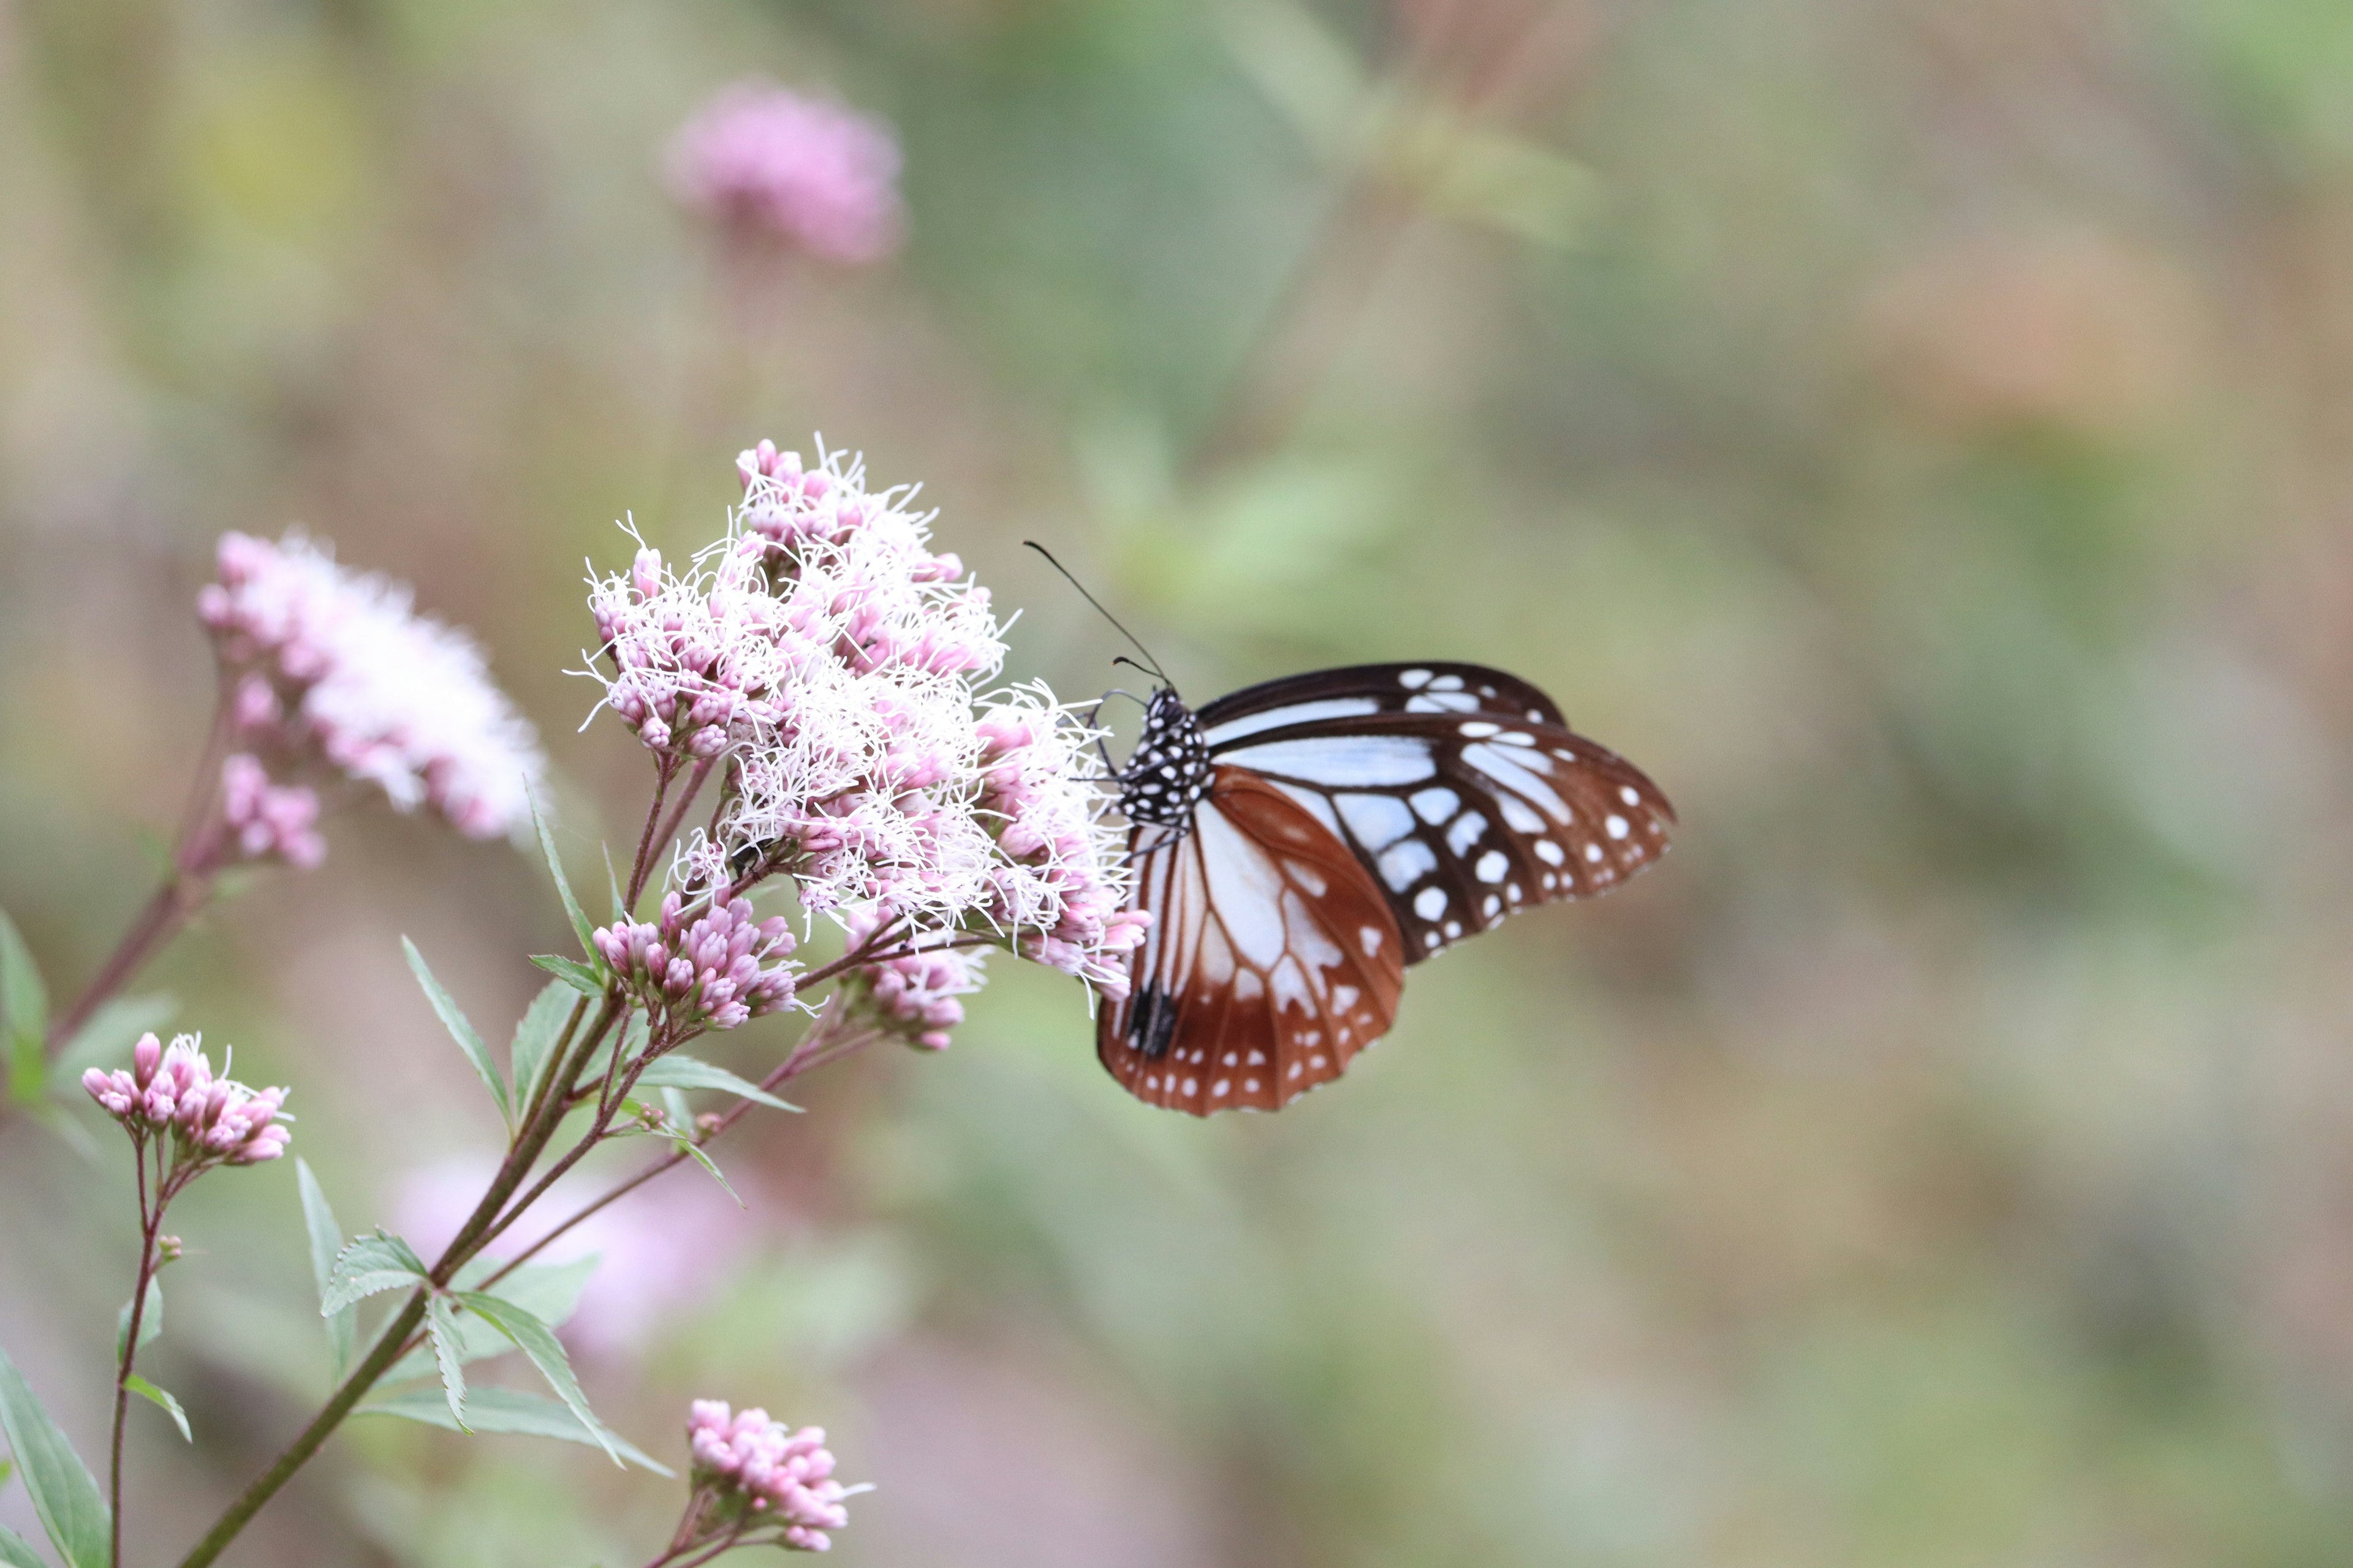
<path fill-rule="evenodd" d="M 732 1030 L 793 999 L 798 964 L 788 964 L 793 931 L 781 914 L 755 922 L 748 898 L 734 898 L 687 919 L 685 898 L 661 898 L 659 922 L 614 922 L 593 933 L 595 950 L 673 1030 L 708 1025 Z"/>

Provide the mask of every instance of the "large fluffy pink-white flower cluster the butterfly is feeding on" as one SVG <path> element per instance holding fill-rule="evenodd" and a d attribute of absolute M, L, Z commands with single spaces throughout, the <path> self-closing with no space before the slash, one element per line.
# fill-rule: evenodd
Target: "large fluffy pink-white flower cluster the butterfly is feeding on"
<path fill-rule="evenodd" d="M 685 571 L 640 548 L 588 599 L 605 705 L 671 764 L 725 759 L 725 806 L 673 889 L 781 872 L 807 910 L 981 931 L 1118 987 L 1141 926 L 1118 914 L 1094 731 L 1042 686 L 984 705 L 1005 658 L 988 590 L 932 552 L 913 491 L 767 442 L 736 468 L 718 543 Z"/>

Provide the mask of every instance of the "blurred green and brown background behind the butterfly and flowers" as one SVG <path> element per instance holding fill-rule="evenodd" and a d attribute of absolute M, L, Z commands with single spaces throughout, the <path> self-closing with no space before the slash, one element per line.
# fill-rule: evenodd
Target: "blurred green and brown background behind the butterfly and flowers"
<path fill-rule="evenodd" d="M 673 209 L 741 75 L 896 122 L 899 259 Z M 473 628 L 593 865 L 645 764 L 574 736 L 584 559 L 814 430 L 927 484 L 1014 675 L 1120 651 L 1031 536 L 1195 698 L 1522 672 L 1682 837 L 1282 1117 L 1129 1103 L 1000 964 L 944 1058 L 736 1135 L 748 1213 L 616 1218 L 572 1338 L 635 1441 L 824 1422 L 878 1568 L 2353 1554 L 2353 9 L 0 0 L 0 905 L 52 987 L 174 818 L 219 531 Z M 329 837 L 148 985 L 360 1227 L 496 1143 L 398 936 L 504 1037 L 562 917 L 506 846 Z M 0 1342 L 85 1453 L 120 1164 L 0 1128 Z M 292 1171 L 176 1229 L 205 1443 L 134 1413 L 136 1561 L 325 1382 Z M 233 1561 L 619 1566 L 673 1512 L 355 1422 Z"/>

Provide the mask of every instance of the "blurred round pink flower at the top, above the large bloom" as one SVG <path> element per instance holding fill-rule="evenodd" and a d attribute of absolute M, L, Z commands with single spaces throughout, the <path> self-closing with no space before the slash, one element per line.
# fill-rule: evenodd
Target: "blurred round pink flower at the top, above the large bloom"
<path fill-rule="evenodd" d="M 772 82 L 725 87 L 687 120 L 671 143 L 671 190 L 826 261 L 880 261 L 906 233 L 892 129 Z"/>

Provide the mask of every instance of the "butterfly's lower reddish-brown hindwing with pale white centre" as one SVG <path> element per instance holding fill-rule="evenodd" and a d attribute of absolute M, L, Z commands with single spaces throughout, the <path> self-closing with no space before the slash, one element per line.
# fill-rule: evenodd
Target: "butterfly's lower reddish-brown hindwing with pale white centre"
<path fill-rule="evenodd" d="M 1287 790 L 1217 769 L 1193 830 L 1132 835 L 1155 912 L 1104 1065 L 1139 1100 L 1205 1117 L 1275 1110 L 1388 1032 L 1405 943 L 1355 853 Z"/>

